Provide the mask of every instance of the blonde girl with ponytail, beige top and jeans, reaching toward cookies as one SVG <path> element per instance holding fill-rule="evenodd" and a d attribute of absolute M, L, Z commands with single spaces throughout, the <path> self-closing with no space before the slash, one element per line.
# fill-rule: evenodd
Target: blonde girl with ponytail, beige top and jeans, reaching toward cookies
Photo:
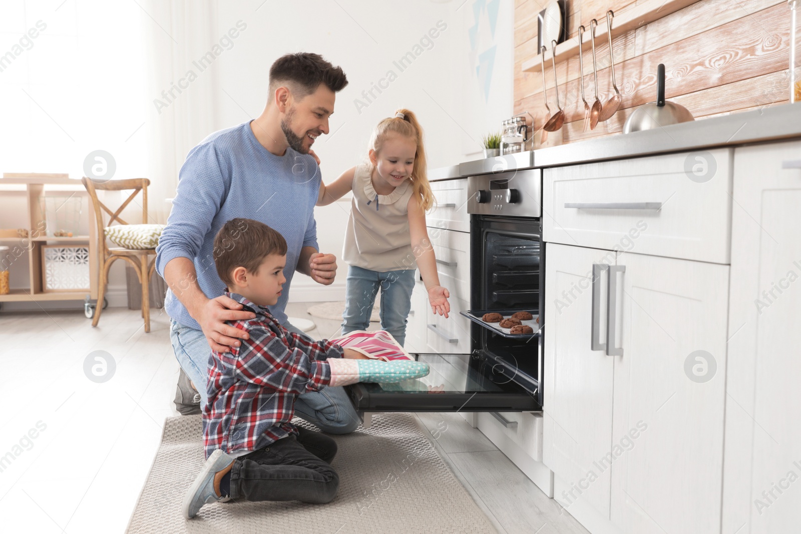
<path fill-rule="evenodd" d="M 317 206 L 353 191 L 343 258 L 348 263 L 342 333 L 366 330 L 381 289 L 381 327 L 402 346 L 412 306 L 415 267 L 434 313 L 448 317 L 449 291 L 440 285 L 425 211 L 434 202 L 425 174 L 423 130 L 409 110 L 384 118 L 370 138 L 368 162 L 320 184 Z"/>

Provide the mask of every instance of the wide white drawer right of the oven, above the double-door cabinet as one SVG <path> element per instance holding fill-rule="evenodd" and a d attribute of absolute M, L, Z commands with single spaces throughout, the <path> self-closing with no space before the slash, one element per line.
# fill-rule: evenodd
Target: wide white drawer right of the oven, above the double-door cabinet
<path fill-rule="evenodd" d="M 727 148 L 545 169 L 543 238 L 730 263 L 732 158 Z"/>

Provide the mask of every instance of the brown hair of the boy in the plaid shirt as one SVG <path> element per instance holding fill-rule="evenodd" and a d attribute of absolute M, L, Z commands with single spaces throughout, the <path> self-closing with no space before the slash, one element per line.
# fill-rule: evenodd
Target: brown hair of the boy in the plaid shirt
<path fill-rule="evenodd" d="M 286 255 L 287 240 L 279 232 L 253 219 L 231 219 L 214 238 L 214 263 L 226 286 L 232 285 L 231 271 L 244 267 L 256 274 L 268 255 Z"/>

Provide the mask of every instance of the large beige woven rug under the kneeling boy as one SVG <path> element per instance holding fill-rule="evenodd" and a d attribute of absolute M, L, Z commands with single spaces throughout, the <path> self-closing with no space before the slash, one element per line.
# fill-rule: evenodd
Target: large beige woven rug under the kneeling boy
<path fill-rule="evenodd" d="M 231 501 L 184 520 L 183 496 L 203 465 L 200 427 L 200 416 L 167 419 L 127 532 L 496 532 L 406 413 L 374 415 L 371 428 L 333 436 L 340 489 L 328 504 Z"/>

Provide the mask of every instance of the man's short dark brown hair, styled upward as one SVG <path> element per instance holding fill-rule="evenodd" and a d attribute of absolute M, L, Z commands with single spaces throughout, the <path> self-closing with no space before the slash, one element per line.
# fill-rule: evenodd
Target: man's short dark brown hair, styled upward
<path fill-rule="evenodd" d="M 320 54 L 298 52 L 281 56 L 270 67 L 270 93 L 275 94 L 285 83 L 300 99 L 316 91 L 320 83 L 337 93 L 348 85 L 348 78 L 341 67 L 333 66 Z"/>

